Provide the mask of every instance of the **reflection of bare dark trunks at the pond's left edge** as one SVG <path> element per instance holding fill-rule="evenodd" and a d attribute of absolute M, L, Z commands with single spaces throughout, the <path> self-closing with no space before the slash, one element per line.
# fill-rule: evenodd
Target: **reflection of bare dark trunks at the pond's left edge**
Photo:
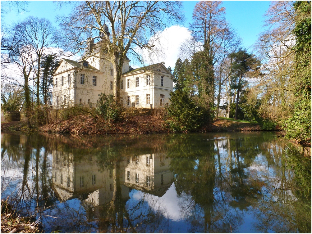
<path fill-rule="evenodd" d="M 2 154 L 10 157 L 11 164 L 16 162 L 18 166 L 22 166 L 22 178 L 17 187 L 9 187 L 12 192 L 9 199 L 18 212 L 39 218 L 41 212 L 56 201 L 51 189 L 51 173 L 47 170 L 46 165 L 47 151 L 46 149 L 41 151 L 42 147 L 45 147 L 44 141 L 42 136 L 17 134 L 12 134 L 12 136 L 2 138 Z M 14 148 L 18 151 L 16 149 L 15 151 L 11 150 Z M 40 162 L 42 153 L 44 154 L 43 163 Z M 18 167 L 8 169 L 18 170 Z M 19 178 L 13 179 L 19 180 Z"/>

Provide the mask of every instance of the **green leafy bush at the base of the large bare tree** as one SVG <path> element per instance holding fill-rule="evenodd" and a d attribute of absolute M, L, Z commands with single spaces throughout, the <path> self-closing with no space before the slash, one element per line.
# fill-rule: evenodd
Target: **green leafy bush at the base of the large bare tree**
<path fill-rule="evenodd" d="M 115 104 L 114 95 L 100 94 L 99 100 L 96 103 L 96 113 L 106 120 L 116 121 L 119 119 L 121 107 Z"/>

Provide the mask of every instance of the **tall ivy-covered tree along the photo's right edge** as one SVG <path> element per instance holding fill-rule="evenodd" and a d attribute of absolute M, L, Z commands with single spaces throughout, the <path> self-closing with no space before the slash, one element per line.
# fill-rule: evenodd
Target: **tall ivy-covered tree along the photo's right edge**
<path fill-rule="evenodd" d="M 286 137 L 311 142 L 311 2 L 295 1 L 294 112 L 285 121 Z"/>

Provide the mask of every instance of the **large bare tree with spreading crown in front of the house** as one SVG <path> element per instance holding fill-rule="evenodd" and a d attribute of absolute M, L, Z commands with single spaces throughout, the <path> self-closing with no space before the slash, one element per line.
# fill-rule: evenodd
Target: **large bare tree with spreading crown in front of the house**
<path fill-rule="evenodd" d="M 143 62 L 138 48 L 154 52 L 158 32 L 183 20 L 181 5 L 178 1 L 85 1 L 75 4 L 70 16 L 59 17 L 59 21 L 68 48 L 84 53 L 86 58 L 95 56 L 113 64 L 113 91 L 119 103 L 127 54 Z M 85 53 L 90 42 L 100 53 L 94 53 L 96 49 Z"/>

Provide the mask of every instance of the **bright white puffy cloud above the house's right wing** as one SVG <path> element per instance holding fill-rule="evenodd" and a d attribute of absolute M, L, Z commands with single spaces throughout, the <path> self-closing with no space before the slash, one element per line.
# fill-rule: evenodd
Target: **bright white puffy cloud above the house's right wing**
<path fill-rule="evenodd" d="M 159 55 L 148 54 L 147 50 L 143 50 L 145 64 L 154 64 L 165 62 L 165 66 L 174 65 L 178 59 L 179 47 L 186 40 L 191 38 L 191 31 L 183 26 L 171 26 L 164 31 L 159 32 L 159 40 L 154 43 L 156 50 L 160 51 Z"/>

